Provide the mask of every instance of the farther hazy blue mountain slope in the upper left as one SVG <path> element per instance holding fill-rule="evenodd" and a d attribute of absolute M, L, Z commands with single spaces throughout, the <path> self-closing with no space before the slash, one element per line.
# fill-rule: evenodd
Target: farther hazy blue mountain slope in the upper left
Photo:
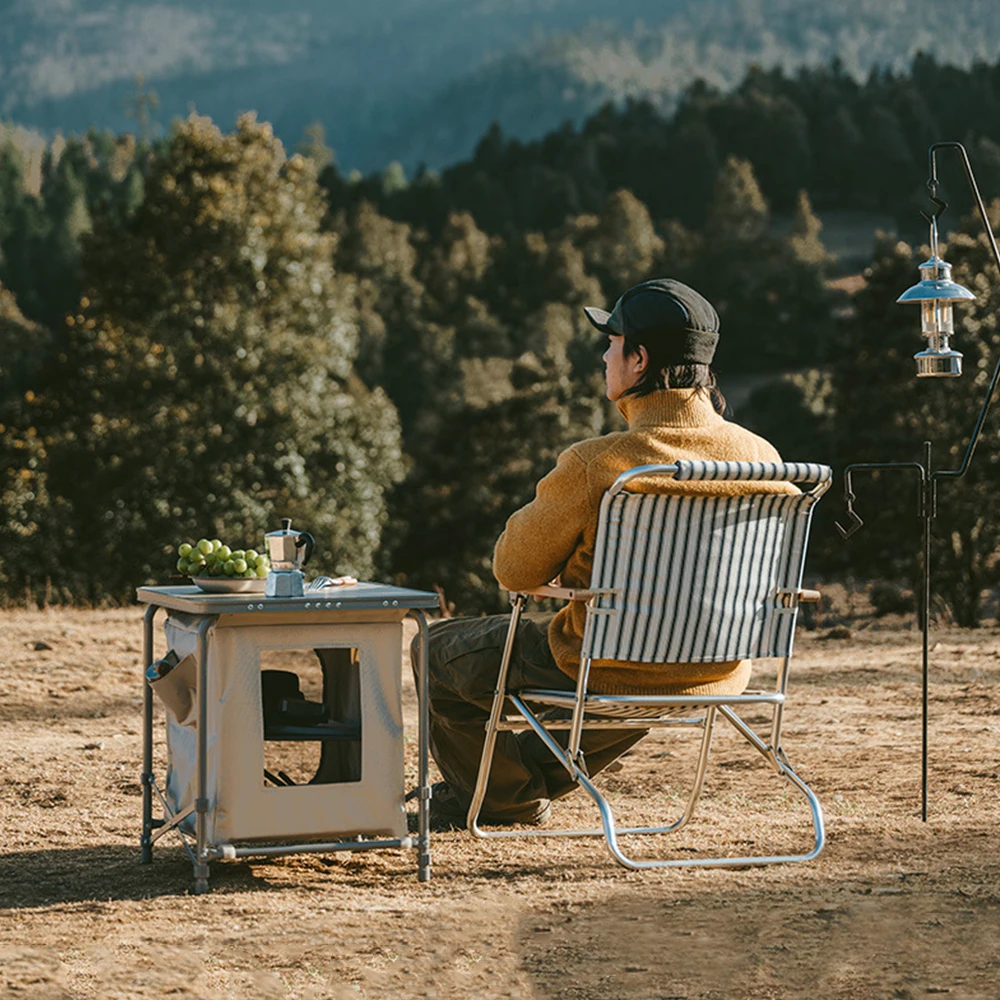
<path fill-rule="evenodd" d="M 46 130 L 130 127 L 135 76 L 167 123 L 191 104 L 220 122 L 256 108 L 295 142 L 321 120 L 341 162 L 427 97 L 527 39 L 598 14 L 631 26 L 685 0 L 16 0 L 0 21 L 0 115 Z M 487 119 L 488 123 L 488 119 Z"/>

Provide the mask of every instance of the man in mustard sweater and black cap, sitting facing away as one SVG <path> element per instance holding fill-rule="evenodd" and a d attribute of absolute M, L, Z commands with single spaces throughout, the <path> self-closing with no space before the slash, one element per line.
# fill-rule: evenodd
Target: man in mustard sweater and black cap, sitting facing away
<path fill-rule="evenodd" d="M 779 462 L 763 438 L 724 420 L 725 400 L 710 367 L 719 317 L 693 288 L 669 278 L 636 285 L 610 313 L 588 307 L 590 322 L 607 335 L 607 397 L 628 430 L 567 448 L 515 511 L 497 540 L 493 571 L 511 591 L 553 579 L 586 588 L 594 559 L 601 497 L 637 465 L 678 459 Z M 641 489 L 640 485 L 637 487 Z M 674 482 L 676 492 L 795 492 L 789 483 Z M 571 691 L 576 685 L 586 609 L 571 601 L 558 614 L 524 615 L 510 663 L 509 685 Z M 485 725 L 493 701 L 509 617 L 436 622 L 429 639 L 431 750 L 445 780 L 434 786 L 437 827 L 464 826 L 476 786 Z M 595 660 L 588 688 L 603 694 L 739 694 L 749 660 L 662 665 Z M 587 730 L 582 750 L 591 776 L 636 743 L 642 730 Z M 549 803 L 576 787 L 565 768 L 532 732 L 501 732 L 483 803 L 486 824 L 543 823 Z"/>

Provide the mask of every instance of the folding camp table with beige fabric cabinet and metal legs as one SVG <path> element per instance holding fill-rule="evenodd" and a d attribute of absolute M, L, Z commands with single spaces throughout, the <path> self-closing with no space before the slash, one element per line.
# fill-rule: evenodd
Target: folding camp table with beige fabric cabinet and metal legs
<path fill-rule="evenodd" d="M 181 659 L 166 710 L 167 773 L 153 773 L 153 687 L 143 684 L 141 861 L 169 831 L 181 835 L 194 866 L 195 892 L 208 891 L 213 860 L 378 848 L 414 849 L 419 879 L 430 879 L 427 621 L 437 594 L 376 583 L 309 591 L 301 597 L 204 593 L 194 586 L 143 587 L 143 668 L 153 662 L 160 608 L 168 645 Z M 402 629 L 416 619 L 418 666 L 417 836 L 404 808 Z M 332 674 L 353 670 L 354 708 L 318 723 L 274 725 L 262 698 L 262 653 L 308 651 Z M 160 690 L 158 687 L 157 690 Z M 309 740 L 354 772 L 307 784 L 265 777 L 265 740 Z M 348 769 L 350 770 L 350 768 Z M 272 779 L 270 782 L 268 778 Z M 317 783 L 318 781 L 318 783 Z M 153 797 L 162 818 L 153 817 Z"/>

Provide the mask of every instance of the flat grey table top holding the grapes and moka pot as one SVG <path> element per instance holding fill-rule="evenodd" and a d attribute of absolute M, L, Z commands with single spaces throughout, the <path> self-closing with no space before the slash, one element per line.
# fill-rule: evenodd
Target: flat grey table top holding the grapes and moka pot
<path fill-rule="evenodd" d="M 438 595 L 385 583 L 360 582 L 348 586 L 306 590 L 302 597 L 265 597 L 263 594 L 208 594 L 193 585 L 140 587 L 137 599 L 192 615 L 249 614 L 253 612 L 363 611 L 440 607 Z"/>

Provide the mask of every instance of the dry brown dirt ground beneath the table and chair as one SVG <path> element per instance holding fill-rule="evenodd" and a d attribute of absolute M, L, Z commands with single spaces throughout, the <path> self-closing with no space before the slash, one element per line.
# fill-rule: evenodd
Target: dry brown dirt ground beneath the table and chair
<path fill-rule="evenodd" d="M 169 838 L 138 863 L 140 610 L 0 612 L 0 996 L 1000 997 L 998 630 L 934 633 L 926 824 L 920 635 L 844 631 L 800 630 L 786 715 L 826 811 L 812 863 L 631 873 L 599 842 L 454 832 L 427 885 L 383 851 L 218 863 L 194 896 Z M 404 697 L 412 776 L 408 679 Z M 621 817 L 676 809 L 693 750 L 644 740 L 605 782 Z M 555 819 L 586 812 L 571 797 Z M 723 730 L 668 845 L 808 835 L 803 800 Z"/>

